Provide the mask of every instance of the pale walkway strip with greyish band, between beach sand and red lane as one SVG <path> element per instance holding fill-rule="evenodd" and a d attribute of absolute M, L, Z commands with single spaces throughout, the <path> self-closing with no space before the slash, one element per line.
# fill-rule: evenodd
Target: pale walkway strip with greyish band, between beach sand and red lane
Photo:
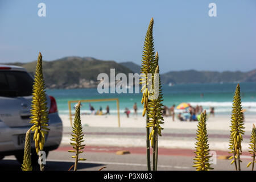
<path fill-rule="evenodd" d="M 83 126 L 85 144 L 88 146 L 144 147 L 146 144 L 146 128 L 88 127 Z M 64 127 L 62 144 L 69 144 L 71 127 Z M 159 137 L 161 148 L 183 148 L 194 150 L 196 131 L 191 129 L 164 129 Z M 229 131 L 208 131 L 211 150 L 228 151 Z M 243 136 L 242 148 L 247 151 L 250 133 Z"/>

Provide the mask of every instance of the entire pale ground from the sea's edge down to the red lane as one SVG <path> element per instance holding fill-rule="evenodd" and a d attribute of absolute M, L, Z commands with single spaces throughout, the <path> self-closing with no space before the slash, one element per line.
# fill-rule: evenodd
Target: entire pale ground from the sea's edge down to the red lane
<path fill-rule="evenodd" d="M 71 123 L 69 115 L 60 115 L 64 125 L 63 144 L 69 144 Z M 82 126 L 85 131 L 85 143 L 92 146 L 123 146 L 144 147 L 145 118 L 141 115 L 120 116 L 121 127 L 118 127 L 117 115 L 81 115 Z M 247 151 L 249 136 L 256 115 L 245 114 L 245 135 L 242 147 Z M 163 137 L 159 138 L 159 147 L 164 148 L 195 148 L 197 122 L 172 121 L 171 117 L 164 118 L 162 125 Z M 207 121 L 209 145 L 211 150 L 228 151 L 229 144 L 229 115 L 216 115 Z M 87 133 L 87 134 L 86 134 Z M 166 134 L 166 135 L 164 135 Z"/>

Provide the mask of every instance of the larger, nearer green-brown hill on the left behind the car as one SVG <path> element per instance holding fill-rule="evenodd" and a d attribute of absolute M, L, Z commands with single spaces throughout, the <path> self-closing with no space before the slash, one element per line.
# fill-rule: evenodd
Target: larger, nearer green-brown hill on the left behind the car
<path fill-rule="evenodd" d="M 30 63 L 8 63 L 19 65 L 34 75 L 36 61 Z M 97 87 L 97 76 L 107 73 L 110 68 L 117 73 L 133 73 L 115 61 L 103 61 L 93 57 L 63 57 L 53 61 L 43 61 L 43 74 L 47 88 L 92 88 Z"/>

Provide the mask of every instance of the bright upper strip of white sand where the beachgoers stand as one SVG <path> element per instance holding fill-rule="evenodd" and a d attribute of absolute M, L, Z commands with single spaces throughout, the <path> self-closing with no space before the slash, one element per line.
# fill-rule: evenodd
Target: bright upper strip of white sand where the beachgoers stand
<path fill-rule="evenodd" d="M 63 121 L 63 126 L 71 126 L 69 115 L 60 115 Z M 176 119 L 176 118 L 175 118 Z M 81 115 L 82 125 L 90 127 L 118 127 L 117 115 Z M 120 126 L 131 128 L 144 128 L 145 117 L 138 115 L 134 117 L 130 115 L 129 118 L 126 115 L 120 115 Z M 245 131 L 251 131 L 253 123 L 256 123 L 256 115 L 245 114 Z M 164 129 L 195 129 L 197 128 L 197 122 L 181 122 L 177 119 L 173 122 L 171 117 L 164 118 Z M 208 130 L 229 130 L 230 115 L 215 115 L 215 117 L 209 117 L 207 120 Z"/>

